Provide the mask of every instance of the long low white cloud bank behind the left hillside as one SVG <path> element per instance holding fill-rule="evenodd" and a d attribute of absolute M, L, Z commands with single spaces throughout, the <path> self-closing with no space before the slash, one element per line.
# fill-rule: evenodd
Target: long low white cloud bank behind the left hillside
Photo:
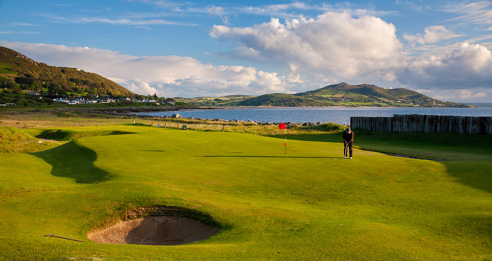
<path fill-rule="evenodd" d="M 253 67 L 214 66 L 191 57 L 135 57 L 119 52 L 64 45 L 0 42 L 37 61 L 77 67 L 109 78 L 138 94 L 165 97 L 293 92 L 300 75 L 278 75 Z"/>

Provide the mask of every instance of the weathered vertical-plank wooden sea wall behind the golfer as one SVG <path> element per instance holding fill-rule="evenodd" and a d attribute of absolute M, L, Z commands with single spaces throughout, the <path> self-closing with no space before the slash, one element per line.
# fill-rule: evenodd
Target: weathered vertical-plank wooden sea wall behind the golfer
<path fill-rule="evenodd" d="M 492 134 L 492 117 L 393 115 L 393 117 L 350 117 L 353 129 L 399 132 L 455 132 Z"/>

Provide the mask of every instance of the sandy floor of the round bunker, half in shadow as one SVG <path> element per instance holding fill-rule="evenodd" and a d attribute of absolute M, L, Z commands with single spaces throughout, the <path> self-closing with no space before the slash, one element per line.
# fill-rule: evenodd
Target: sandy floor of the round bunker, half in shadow
<path fill-rule="evenodd" d="M 177 246 L 213 236 L 218 228 L 184 217 L 145 217 L 89 233 L 97 243 Z"/>

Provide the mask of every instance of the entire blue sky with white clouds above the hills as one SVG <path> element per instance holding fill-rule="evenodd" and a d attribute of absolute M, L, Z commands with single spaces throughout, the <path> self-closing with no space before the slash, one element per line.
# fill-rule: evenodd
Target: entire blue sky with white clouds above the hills
<path fill-rule="evenodd" d="M 492 1 L 0 0 L 0 10 L 0 46 L 139 94 L 347 82 L 492 102 Z"/>

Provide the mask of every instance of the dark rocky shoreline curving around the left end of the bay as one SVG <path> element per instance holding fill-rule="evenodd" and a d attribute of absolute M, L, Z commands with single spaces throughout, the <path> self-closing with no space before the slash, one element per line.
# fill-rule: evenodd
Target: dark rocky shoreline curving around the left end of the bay
<path fill-rule="evenodd" d="M 180 111 L 189 109 L 218 109 L 218 108 L 197 108 L 188 106 L 178 106 L 178 107 L 115 107 L 115 108 L 58 108 L 54 110 L 64 110 L 64 111 L 79 111 L 85 113 L 100 113 L 111 116 L 128 116 L 128 117 L 141 117 L 141 118 L 186 118 L 176 113 L 172 116 L 152 116 L 137 113 L 150 113 L 150 112 L 169 112 L 169 111 Z M 201 121 L 220 121 L 220 122 L 235 122 L 235 123 L 254 123 L 257 125 L 278 125 L 283 122 L 269 122 L 269 121 L 255 121 L 251 119 L 207 119 L 207 118 L 196 118 L 188 117 L 189 119 L 201 120 Z M 300 126 L 313 126 L 320 125 L 321 122 L 286 122 L 286 125 L 300 125 Z"/>

